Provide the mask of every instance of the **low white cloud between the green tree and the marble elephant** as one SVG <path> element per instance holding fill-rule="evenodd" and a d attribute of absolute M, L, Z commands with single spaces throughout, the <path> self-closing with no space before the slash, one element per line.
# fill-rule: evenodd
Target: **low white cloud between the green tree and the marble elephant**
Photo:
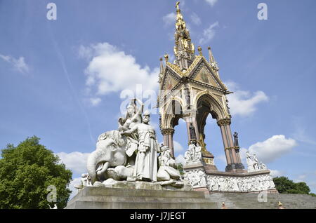
<path fill-rule="evenodd" d="M 70 154 L 65 152 L 60 152 L 56 154 L 60 157 L 62 163 L 66 165 L 66 168 L 72 170 L 74 174 L 87 173 L 86 170 L 86 160 L 89 156 L 88 153 L 81 153 L 79 151 L 74 151 Z"/>

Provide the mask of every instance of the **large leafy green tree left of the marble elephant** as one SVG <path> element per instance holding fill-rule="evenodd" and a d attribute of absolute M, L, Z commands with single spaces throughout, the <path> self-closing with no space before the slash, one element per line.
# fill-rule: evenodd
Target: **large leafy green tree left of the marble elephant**
<path fill-rule="evenodd" d="M 47 201 L 49 185 L 57 189 L 58 208 L 65 208 L 72 172 L 53 151 L 39 144 L 38 137 L 29 137 L 18 147 L 8 144 L 1 157 L 0 208 L 49 208 L 48 204 L 54 204 Z"/>

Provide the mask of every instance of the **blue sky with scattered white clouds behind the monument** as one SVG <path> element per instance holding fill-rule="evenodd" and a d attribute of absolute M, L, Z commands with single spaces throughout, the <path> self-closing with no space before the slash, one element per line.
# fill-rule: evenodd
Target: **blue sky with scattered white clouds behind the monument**
<path fill-rule="evenodd" d="M 48 20 L 48 2 L 57 20 Z M 157 86 L 159 58 L 173 55 L 176 1 L 0 0 L 0 146 L 37 135 L 73 178 L 100 133 L 117 129 L 122 90 Z M 260 2 L 268 20 L 258 20 Z M 230 90 L 232 131 L 274 175 L 316 192 L 316 28 L 313 0 L 181 1 L 195 47 L 211 46 Z M 157 89 L 156 89 L 157 90 Z M 152 115 L 159 141 L 159 116 Z M 186 130 L 176 126 L 176 156 Z M 207 149 L 225 169 L 216 122 Z"/>

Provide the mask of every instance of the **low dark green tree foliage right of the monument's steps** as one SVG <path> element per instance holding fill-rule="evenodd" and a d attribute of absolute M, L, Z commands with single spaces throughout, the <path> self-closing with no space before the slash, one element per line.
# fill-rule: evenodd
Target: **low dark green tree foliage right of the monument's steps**
<path fill-rule="evenodd" d="M 305 182 L 295 183 L 287 177 L 275 177 L 275 188 L 281 194 L 309 194 L 310 187 Z"/>

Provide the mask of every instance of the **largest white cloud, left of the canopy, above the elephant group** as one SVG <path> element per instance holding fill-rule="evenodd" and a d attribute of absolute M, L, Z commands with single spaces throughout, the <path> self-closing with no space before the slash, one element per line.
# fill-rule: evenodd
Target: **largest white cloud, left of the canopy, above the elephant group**
<path fill-rule="evenodd" d="M 120 90 L 133 90 L 136 84 L 143 90 L 155 90 L 159 68 L 150 70 L 141 67 L 132 55 L 126 55 L 110 43 L 98 43 L 88 47 L 80 46 L 79 56 L 89 61 L 85 69 L 86 92 L 96 95 L 107 95 Z M 95 96 L 94 96 L 95 97 Z M 100 100 L 94 100 L 98 104 Z"/>

